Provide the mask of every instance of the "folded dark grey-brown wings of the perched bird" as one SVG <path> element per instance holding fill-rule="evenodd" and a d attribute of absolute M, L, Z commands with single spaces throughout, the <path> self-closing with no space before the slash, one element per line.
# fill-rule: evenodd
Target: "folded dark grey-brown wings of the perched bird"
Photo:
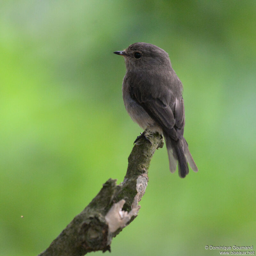
<path fill-rule="evenodd" d="M 150 88 L 151 86 L 130 84 L 130 96 L 145 109 L 148 115 L 161 126 L 165 133 L 173 140 L 178 140 L 180 135 L 183 135 L 185 125 L 183 99 L 175 99 L 176 101 L 174 102 L 167 102 L 166 97 L 148 92 L 145 89 L 147 87 Z M 144 89 L 143 93 L 141 88 Z M 154 97 L 154 94 L 156 97 Z M 172 111 L 172 109 L 174 109 L 174 111 Z"/>

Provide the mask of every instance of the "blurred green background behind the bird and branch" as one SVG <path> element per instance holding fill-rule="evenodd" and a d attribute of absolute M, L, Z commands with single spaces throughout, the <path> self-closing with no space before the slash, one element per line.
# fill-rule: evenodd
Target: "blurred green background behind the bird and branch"
<path fill-rule="evenodd" d="M 170 55 L 199 172 L 180 179 L 157 150 L 139 216 L 105 254 L 256 246 L 255 13 L 254 0 L 1 1 L 0 255 L 42 252 L 106 180 L 123 180 L 142 131 L 113 52 L 135 42 Z"/>

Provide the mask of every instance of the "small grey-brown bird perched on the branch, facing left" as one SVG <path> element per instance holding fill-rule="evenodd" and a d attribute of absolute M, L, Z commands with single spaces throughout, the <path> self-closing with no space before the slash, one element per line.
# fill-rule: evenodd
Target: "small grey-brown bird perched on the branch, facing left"
<path fill-rule="evenodd" d="M 168 53 L 146 43 L 131 44 L 124 51 L 114 53 L 124 56 L 123 99 L 132 120 L 144 130 L 148 128 L 164 135 L 171 172 L 175 172 L 177 161 L 181 178 L 188 174 L 188 163 L 197 172 L 183 137 L 183 87 Z"/>

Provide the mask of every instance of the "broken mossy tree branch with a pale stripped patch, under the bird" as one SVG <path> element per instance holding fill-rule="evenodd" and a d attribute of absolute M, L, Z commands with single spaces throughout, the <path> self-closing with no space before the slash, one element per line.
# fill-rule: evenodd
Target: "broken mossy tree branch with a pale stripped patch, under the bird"
<path fill-rule="evenodd" d="M 138 202 L 148 185 L 148 167 L 157 148 L 164 145 L 163 137 L 149 130 L 150 140 L 136 142 L 128 157 L 124 181 L 116 185 L 109 179 L 92 202 L 76 215 L 50 246 L 38 256 L 82 256 L 87 252 L 110 251 L 112 238 L 138 214 Z"/>

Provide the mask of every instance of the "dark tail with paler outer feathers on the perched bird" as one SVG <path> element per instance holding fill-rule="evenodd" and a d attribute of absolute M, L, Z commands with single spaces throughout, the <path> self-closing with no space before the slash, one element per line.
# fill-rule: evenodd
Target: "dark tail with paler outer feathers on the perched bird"
<path fill-rule="evenodd" d="M 179 140 L 172 140 L 168 135 L 164 135 L 164 139 L 169 157 L 169 167 L 172 173 L 176 171 L 177 162 L 180 178 L 185 178 L 188 174 L 188 163 L 194 172 L 198 171 L 194 159 L 188 150 L 188 143 L 183 137 Z"/>

